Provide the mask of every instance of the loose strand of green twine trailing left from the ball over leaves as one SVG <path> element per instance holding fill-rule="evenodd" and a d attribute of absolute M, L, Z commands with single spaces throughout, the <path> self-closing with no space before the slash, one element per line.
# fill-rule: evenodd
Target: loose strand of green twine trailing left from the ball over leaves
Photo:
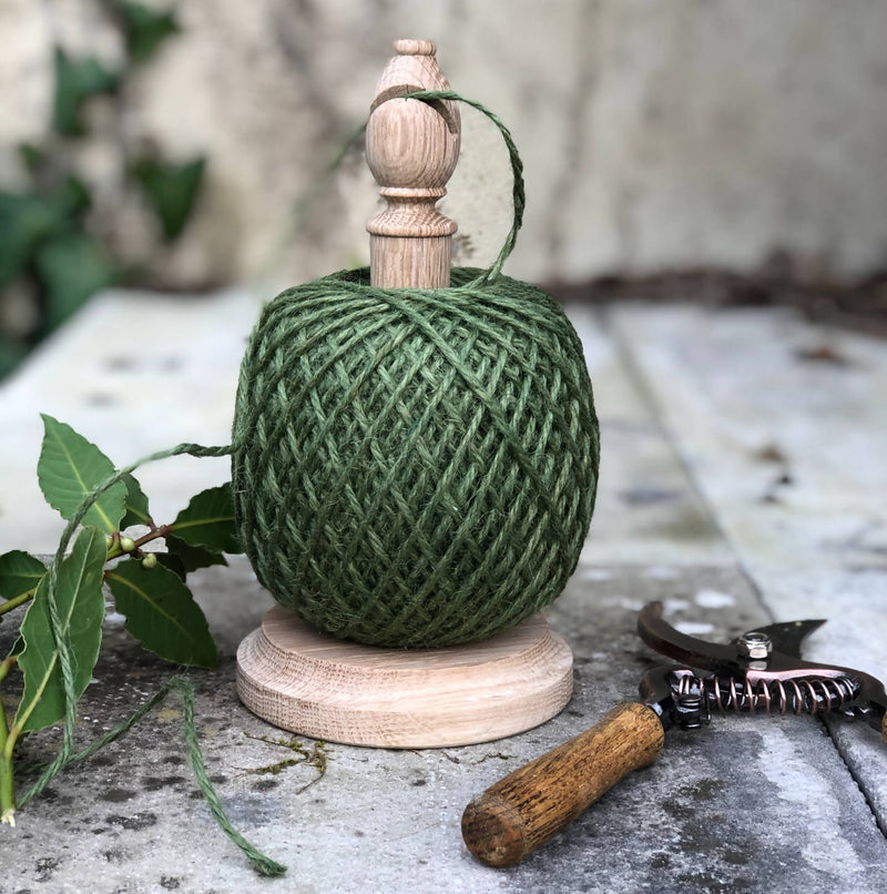
<path fill-rule="evenodd" d="M 263 854 L 233 827 L 224 807 L 222 806 L 222 802 L 220 801 L 218 795 L 206 774 L 206 768 L 203 762 L 203 753 L 197 741 L 197 732 L 194 724 L 194 688 L 188 681 L 182 678 L 173 678 L 169 680 L 153 698 L 142 704 L 119 727 L 98 739 L 83 751 L 72 753 L 74 746 L 74 724 L 77 723 L 78 699 L 77 690 L 74 688 L 74 671 L 71 661 L 70 634 L 59 617 L 58 602 L 55 598 L 59 579 L 59 566 L 64 558 L 68 545 L 71 541 L 71 537 L 95 500 L 98 500 L 105 490 L 115 485 L 118 481 L 122 480 L 125 475 L 135 471 L 135 469 L 143 464 L 156 459 L 165 459 L 172 456 L 181 456 L 183 454 L 195 457 L 210 457 L 227 456 L 230 453 L 231 447 L 227 446 L 203 447 L 197 444 L 180 444 L 171 449 L 151 454 L 144 459 L 133 463 L 131 466 L 128 466 L 120 471 L 115 471 L 93 491 L 88 494 L 80 504 L 77 512 L 68 521 L 61 540 L 59 541 L 59 548 L 55 551 L 52 562 L 50 563 L 47 577 L 47 608 L 50 620 L 50 630 L 52 632 L 54 646 L 59 654 L 59 669 L 62 678 L 62 688 L 64 690 L 64 725 L 62 731 L 62 746 L 55 759 L 42 770 L 39 779 L 33 783 L 33 785 L 31 785 L 31 788 L 18 799 L 18 803 L 19 806 L 24 806 L 29 801 L 37 798 L 37 795 L 39 795 L 52 781 L 52 779 L 65 766 L 90 758 L 110 742 L 113 742 L 115 739 L 124 735 L 152 708 L 154 708 L 156 704 L 160 704 L 171 692 L 175 691 L 180 693 L 183 701 L 185 740 L 191 753 L 191 763 L 194 769 L 194 775 L 197 779 L 197 785 L 206 800 L 215 821 L 218 823 L 225 834 L 243 851 L 243 853 L 259 873 L 268 876 L 279 876 L 286 872 L 286 867 Z"/>

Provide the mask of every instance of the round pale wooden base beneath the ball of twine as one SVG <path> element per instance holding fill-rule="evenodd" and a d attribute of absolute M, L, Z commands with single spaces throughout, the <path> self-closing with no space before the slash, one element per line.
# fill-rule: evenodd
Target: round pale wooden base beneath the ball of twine
<path fill-rule="evenodd" d="M 319 633 L 275 606 L 237 650 L 237 694 L 292 732 L 442 748 L 529 730 L 570 700 L 573 656 L 536 614 L 483 642 L 380 649 Z"/>

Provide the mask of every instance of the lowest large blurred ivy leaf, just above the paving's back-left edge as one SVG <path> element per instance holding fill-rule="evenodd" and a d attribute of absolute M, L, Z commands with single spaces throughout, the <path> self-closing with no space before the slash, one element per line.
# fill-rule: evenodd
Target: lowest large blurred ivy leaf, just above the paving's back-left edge
<path fill-rule="evenodd" d="M 102 244 L 82 232 L 47 240 L 37 250 L 34 266 L 44 292 L 47 332 L 116 278 L 114 263 Z"/>

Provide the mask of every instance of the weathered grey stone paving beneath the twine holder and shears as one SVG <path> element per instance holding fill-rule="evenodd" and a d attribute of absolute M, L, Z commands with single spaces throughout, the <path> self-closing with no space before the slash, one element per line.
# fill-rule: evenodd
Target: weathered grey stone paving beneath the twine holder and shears
<path fill-rule="evenodd" d="M 10 423 L 0 431 L 0 550 L 45 552 L 61 528 L 51 511 L 41 515 L 35 488 L 39 410 L 120 463 L 182 439 L 225 439 L 257 303 L 235 293 L 200 309 L 170 303 L 163 326 L 92 351 L 109 326 L 132 333 L 147 302 L 108 296 L 0 389 Z M 887 748 L 859 724 L 806 717 L 715 715 L 700 731 L 670 731 L 652 766 L 518 867 L 486 868 L 462 845 L 459 819 L 472 796 L 636 698 L 653 659 L 634 633 L 635 614 L 650 599 L 663 600 L 680 629 L 712 640 L 774 619 L 829 618 L 806 654 L 887 677 L 887 346 L 772 312 L 571 313 L 594 382 L 603 458 L 582 562 L 548 610 L 575 656 L 567 710 L 521 735 L 463 749 L 317 751 L 236 699 L 236 646 L 271 605 L 238 557 L 194 578 L 221 661 L 190 677 L 223 802 L 237 827 L 289 866 L 287 877 L 258 878 L 216 829 L 187 762 L 181 707 L 170 701 L 59 776 L 14 830 L 0 831 L 0 894 L 887 890 Z M 801 357 L 826 338 L 847 364 Z M 145 481 L 172 511 L 217 482 L 213 476 L 224 480 L 224 465 L 204 473 L 177 463 Z M 13 631 L 3 623 L 0 640 Z M 169 673 L 112 616 L 79 736 L 113 725 Z M 278 739 L 296 741 L 306 760 L 268 772 L 296 754 L 263 741 Z M 32 736 L 27 753 L 40 760 L 55 742 L 51 732 Z M 313 763 L 322 754 L 319 776 Z"/>

